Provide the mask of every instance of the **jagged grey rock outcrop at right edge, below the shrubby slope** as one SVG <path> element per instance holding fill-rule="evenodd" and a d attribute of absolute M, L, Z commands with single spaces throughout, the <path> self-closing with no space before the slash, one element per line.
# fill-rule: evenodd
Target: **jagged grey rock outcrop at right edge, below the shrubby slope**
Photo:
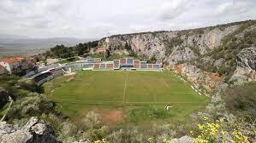
<path fill-rule="evenodd" d="M 256 47 L 242 49 L 236 56 L 237 66 L 231 81 L 256 81 Z"/>

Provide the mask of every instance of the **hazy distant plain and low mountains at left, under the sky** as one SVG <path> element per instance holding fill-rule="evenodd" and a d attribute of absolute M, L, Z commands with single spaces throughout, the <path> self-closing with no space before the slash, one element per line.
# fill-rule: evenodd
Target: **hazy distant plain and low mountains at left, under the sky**
<path fill-rule="evenodd" d="M 57 44 L 74 46 L 78 43 L 97 40 L 96 38 L 52 37 L 31 38 L 0 34 L 0 58 L 38 54 Z"/>

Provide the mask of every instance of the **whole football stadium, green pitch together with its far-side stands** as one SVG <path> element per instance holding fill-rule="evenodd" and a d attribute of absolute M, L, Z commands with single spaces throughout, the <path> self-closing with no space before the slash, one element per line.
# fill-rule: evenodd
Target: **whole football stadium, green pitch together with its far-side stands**
<path fill-rule="evenodd" d="M 158 63 L 134 58 L 88 59 L 51 66 L 41 73 L 33 76 L 34 79 L 39 81 L 39 77 L 50 75 L 49 79 L 39 81 L 40 85 L 44 83 L 42 86 L 48 98 L 74 120 L 94 109 L 117 108 L 126 114 L 142 106 L 169 110 L 170 118 L 178 119 L 207 104 L 204 95 L 175 73 L 164 72 Z"/>

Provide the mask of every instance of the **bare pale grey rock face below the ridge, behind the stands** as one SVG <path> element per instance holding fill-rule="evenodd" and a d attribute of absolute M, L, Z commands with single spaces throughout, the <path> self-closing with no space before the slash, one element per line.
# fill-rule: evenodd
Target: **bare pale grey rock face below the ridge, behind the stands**
<path fill-rule="evenodd" d="M 123 53 L 127 53 L 124 48 L 128 44 L 137 54 L 147 58 L 155 56 L 158 60 L 166 58 L 167 49 L 174 49 L 178 54 L 182 51 L 186 53 L 176 55 L 176 59 L 181 56 L 180 58 L 187 60 L 194 56 L 194 52 L 191 53 L 191 47 L 195 48 L 198 54 L 207 54 L 220 45 L 221 39 L 224 36 L 234 32 L 237 28 L 238 26 L 235 25 L 228 26 L 223 30 L 219 28 L 205 28 L 204 30 L 158 31 L 116 35 L 104 37 L 99 43 L 110 48 L 113 53 L 117 51 L 121 53 L 120 49 L 124 51 Z"/>

